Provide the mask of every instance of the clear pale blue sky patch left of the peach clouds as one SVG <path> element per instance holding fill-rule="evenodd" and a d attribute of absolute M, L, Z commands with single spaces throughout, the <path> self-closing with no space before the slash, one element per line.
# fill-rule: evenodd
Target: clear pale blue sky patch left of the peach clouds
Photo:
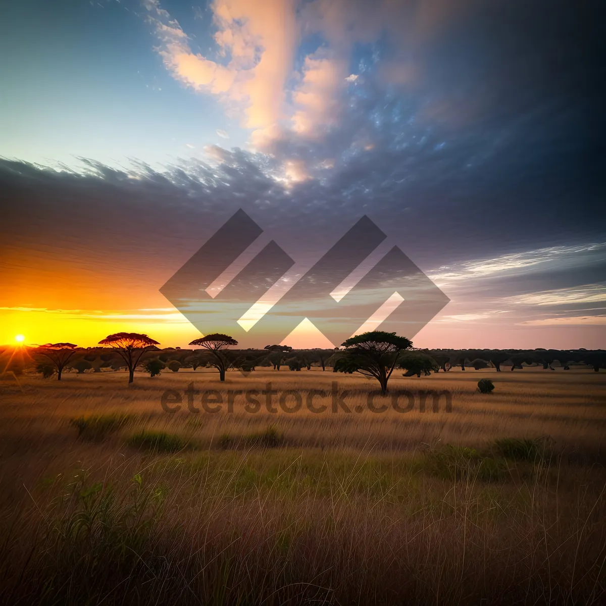
<path fill-rule="evenodd" d="M 244 144 L 238 121 L 216 99 L 193 94 L 165 70 L 135 2 L 12 2 L 3 12 L 4 156 L 165 163 L 224 143 L 218 129 Z"/>

